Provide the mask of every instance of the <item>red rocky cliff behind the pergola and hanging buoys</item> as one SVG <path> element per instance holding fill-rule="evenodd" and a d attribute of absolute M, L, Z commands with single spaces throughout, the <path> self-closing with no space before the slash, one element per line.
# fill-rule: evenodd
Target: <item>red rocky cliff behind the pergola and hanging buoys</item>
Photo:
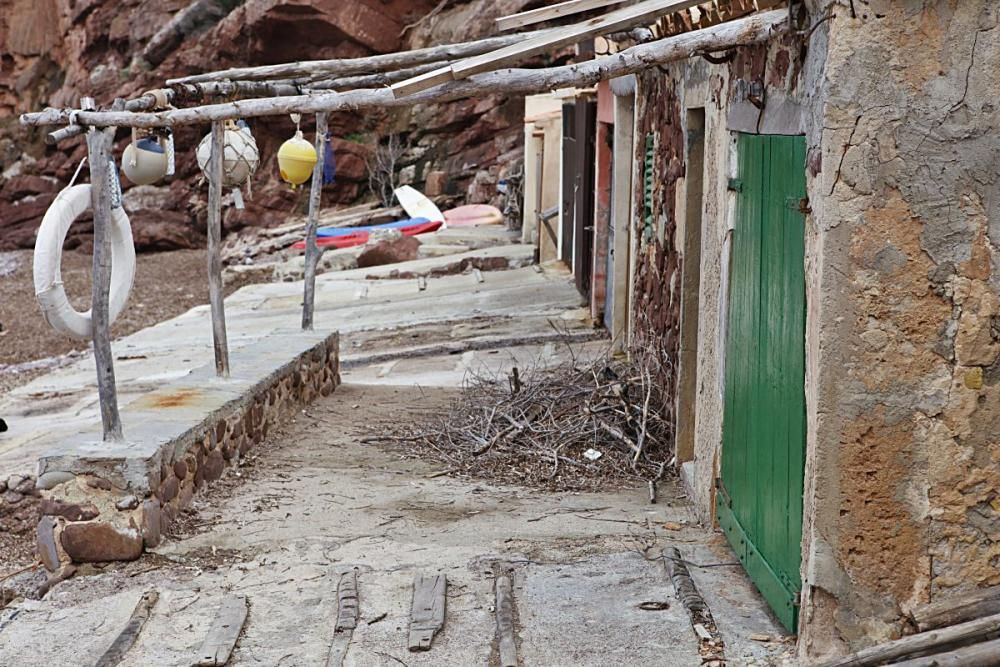
<path fill-rule="evenodd" d="M 31 247 L 55 193 L 86 154 L 77 138 L 47 147 L 44 132 L 21 128 L 17 114 L 73 106 L 83 95 L 107 104 L 160 87 L 172 77 L 241 65 L 358 57 L 492 32 L 499 15 L 530 0 L 215 0 L 171 40 L 151 38 L 189 0 L 0 0 L 0 250 Z M 469 203 L 496 197 L 496 183 L 521 157 L 523 103 L 491 96 L 449 105 L 331 117 L 337 183 L 324 205 L 371 196 L 366 161 L 396 135 L 401 182 Z M 305 190 L 281 183 L 278 145 L 293 130 L 287 117 L 252 123 L 262 164 L 244 211 L 227 207 L 227 232 L 270 226 L 301 210 Z M 305 128 L 304 128 L 305 129 Z M 129 187 L 126 209 L 140 250 L 204 243 L 206 187 L 194 148 L 208 127 L 177 132 L 177 174 L 160 186 Z M 118 134 L 118 155 L 128 133 Z M 89 249 L 91 226 L 73 226 L 67 247 Z"/>

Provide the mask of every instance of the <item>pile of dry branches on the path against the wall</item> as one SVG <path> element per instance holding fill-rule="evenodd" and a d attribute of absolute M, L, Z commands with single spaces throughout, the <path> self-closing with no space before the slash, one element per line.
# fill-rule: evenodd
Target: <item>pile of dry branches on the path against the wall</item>
<path fill-rule="evenodd" d="M 655 483 L 673 456 L 673 424 L 654 407 L 664 401 L 658 375 L 608 357 L 470 375 L 447 411 L 376 439 L 499 482 L 559 491 Z"/>

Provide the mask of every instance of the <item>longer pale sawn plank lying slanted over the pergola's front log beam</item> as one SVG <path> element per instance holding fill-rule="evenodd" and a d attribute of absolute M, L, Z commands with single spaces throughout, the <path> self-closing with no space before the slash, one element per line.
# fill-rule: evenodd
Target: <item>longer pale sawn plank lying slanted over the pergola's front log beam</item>
<path fill-rule="evenodd" d="M 600 18 L 553 30 L 519 44 L 511 44 L 496 51 L 467 58 L 450 67 L 443 67 L 406 81 L 400 81 L 392 85 L 392 92 L 396 97 L 403 97 L 455 79 L 465 79 L 473 74 L 509 67 L 531 56 L 550 52 L 561 46 L 576 44 L 589 37 L 652 23 L 664 14 L 688 9 L 702 1 L 646 0 L 637 5 L 615 10 Z"/>

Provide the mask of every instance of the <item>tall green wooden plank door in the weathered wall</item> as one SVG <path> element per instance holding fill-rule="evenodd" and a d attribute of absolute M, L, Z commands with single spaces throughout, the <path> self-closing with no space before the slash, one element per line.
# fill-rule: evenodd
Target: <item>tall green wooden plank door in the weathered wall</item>
<path fill-rule="evenodd" d="M 805 456 L 805 139 L 740 135 L 719 522 L 795 631 Z"/>

